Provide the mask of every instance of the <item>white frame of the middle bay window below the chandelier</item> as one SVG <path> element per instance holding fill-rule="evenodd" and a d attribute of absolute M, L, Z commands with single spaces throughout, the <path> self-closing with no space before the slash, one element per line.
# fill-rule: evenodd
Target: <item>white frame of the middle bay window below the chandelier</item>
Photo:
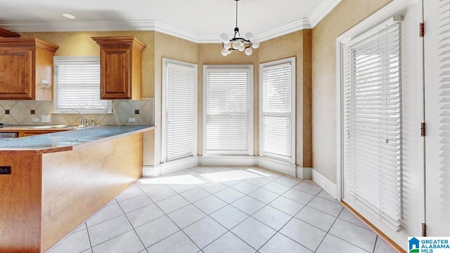
<path fill-rule="evenodd" d="M 253 153 L 253 129 L 254 129 L 254 97 L 253 97 L 253 65 L 203 65 L 203 156 L 245 156 L 243 154 L 233 154 L 233 153 L 212 153 L 207 152 L 207 74 L 210 71 L 219 70 L 237 70 L 241 72 L 247 72 L 248 82 L 247 82 L 247 104 L 248 104 L 248 152 L 245 155 L 251 156 Z"/>

